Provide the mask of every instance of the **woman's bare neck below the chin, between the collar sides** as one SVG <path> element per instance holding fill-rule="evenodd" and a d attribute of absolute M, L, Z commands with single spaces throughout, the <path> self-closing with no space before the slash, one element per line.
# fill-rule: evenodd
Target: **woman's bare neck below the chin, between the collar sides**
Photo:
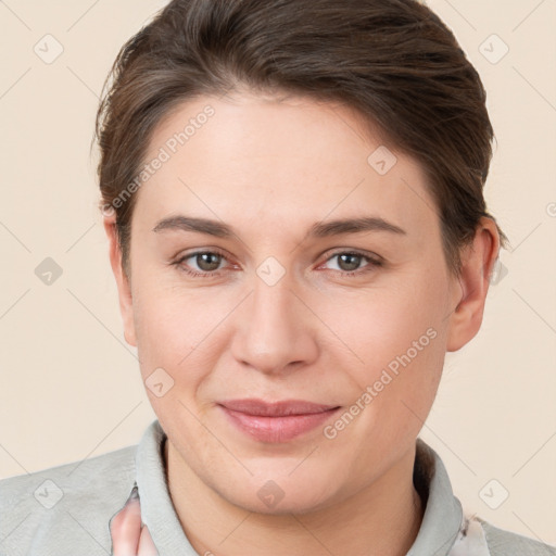
<path fill-rule="evenodd" d="M 201 481 L 168 440 L 164 452 L 174 507 L 189 542 L 202 555 L 402 556 L 422 521 L 425 508 L 413 484 L 415 446 L 366 489 L 302 515 L 240 508 Z"/>

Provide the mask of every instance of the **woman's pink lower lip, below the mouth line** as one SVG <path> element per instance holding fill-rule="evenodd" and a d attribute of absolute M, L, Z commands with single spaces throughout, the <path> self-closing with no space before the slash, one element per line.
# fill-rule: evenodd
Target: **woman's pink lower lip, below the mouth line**
<path fill-rule="evenodd" d="M 288 442 L 330 419 L 340 408 L 327 412 L 289 415 L 285 417 L 263 417 L 248 415 L 220 406 L 232 425 L 261 442 Z"/>

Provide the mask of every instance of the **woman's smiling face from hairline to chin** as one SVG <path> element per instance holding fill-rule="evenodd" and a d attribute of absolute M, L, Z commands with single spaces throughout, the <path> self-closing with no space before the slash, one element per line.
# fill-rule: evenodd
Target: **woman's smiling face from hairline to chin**
<path fill-rule="evenodd" d="M 359 123 L 238 93 L 151 138 L 126 339 L 169 450 L 250 510 L 309 511 L 388 473 L 467 341 L 425 175 Z"/>

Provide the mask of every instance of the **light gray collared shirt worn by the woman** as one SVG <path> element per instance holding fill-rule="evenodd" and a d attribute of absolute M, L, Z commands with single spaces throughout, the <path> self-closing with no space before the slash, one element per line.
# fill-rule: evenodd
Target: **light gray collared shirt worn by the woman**
<path fill-rule="evenodd" d="M 111 555 L 110 521 L 135 486 L 159 555 L 198 556 L 169 496 L 165 440 L 154 420 L 136 446 L 1 480 L 0 556 Z M 421 439 L 414 482 L 426 508 L 407 556 L 556 556 L 554 546 L 465 516 L 440 456 Z"/>

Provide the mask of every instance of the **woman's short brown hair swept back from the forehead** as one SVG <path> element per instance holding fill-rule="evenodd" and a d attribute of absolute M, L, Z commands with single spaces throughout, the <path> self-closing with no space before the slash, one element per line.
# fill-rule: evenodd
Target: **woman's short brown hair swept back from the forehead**
<path fill-rule="evenodd" d="M 101 205 L 115 210 L 126 274 L 137 193 L 114 201 L 141 172 L 155 126 L 184 101 L 245 87 L 356 109 L 414 156 L 439 211 L 446 264 L 459 275 L 479 219 L 495 222 L 483 198 L 494 132 L 477 71 L 416 0 L 173 0 L 131 37 L 96 127 Z"/>

